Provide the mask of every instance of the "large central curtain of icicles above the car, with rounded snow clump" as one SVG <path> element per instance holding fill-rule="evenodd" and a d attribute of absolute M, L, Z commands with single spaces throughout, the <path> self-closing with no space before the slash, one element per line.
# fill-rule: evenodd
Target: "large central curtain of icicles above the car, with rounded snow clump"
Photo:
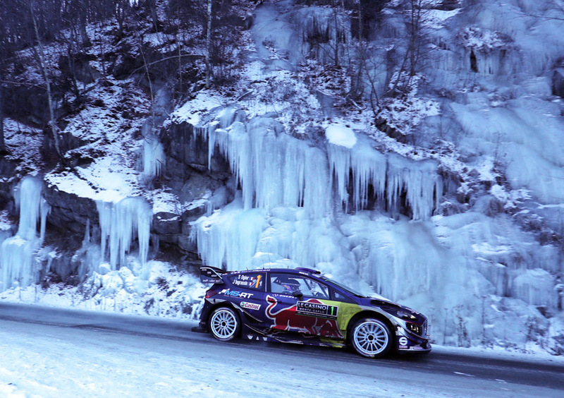
<path fill-rule="evenodd" d="M 274 119 L 247 122 L 228 108 L 195 134 L 209 142 L 209 164 L 214 153 L 228 159 L 240 187 L 233 203 L 192 230 L 202 260 L 215 267 L 343 268 L 354 258 L 336 222 L 342 203 L 345 212 L 349 202 L 355 211 L 370 202 L 398 216 L 405 196 L 412 218 L 428 219 L 442 195 L 435 162 L 383 154 L 344 126 L 329 126 L 326 146 L 317 147 Z"/>

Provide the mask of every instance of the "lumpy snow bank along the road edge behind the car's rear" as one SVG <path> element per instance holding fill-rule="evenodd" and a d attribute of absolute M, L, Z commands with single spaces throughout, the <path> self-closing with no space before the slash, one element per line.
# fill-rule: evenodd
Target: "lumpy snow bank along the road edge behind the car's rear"
<path fill-rule="evenodd" d="M 140 275 L 135 265 L 110 271 L 108 264 L 91 272 L 78 287 L 63 283 L 16 287 L 0 293 L 0 300 L 40 306 L 197 319 L 206 287 L 200 279 L 173 265 L 149 261 Z M 139 266 L 137 265 L 139 269 Z M 140 270 L 140 269 L 139 269 Z"/>

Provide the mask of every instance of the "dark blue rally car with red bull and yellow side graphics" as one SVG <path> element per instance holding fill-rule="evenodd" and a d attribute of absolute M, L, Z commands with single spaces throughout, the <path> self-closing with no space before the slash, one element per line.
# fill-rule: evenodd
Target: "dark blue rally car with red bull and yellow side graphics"
<path fill-rule="evenodd" d="M 427 318 L 384 298 L 355 293 L 308 268 L 226 272 L 201 267 L 212 283 L 200 327 L 223 342 L 236 337 L 345 346 L 380 358 L 390 351 L 427 354 Z"/>

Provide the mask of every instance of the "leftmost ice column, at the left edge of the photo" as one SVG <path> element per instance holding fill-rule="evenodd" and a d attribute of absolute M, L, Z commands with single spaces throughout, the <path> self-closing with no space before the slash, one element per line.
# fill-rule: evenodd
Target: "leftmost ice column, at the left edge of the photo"
<path fill-rule="evenodd" d="M 13 286 L 28 286 L 39 277 L 35 253 L 44 239 L 49 214 L 49 205 L 41 192 L 42 181 L 34 177 L 23 179 L 16 191 L 20 224 L 16 235 L 4 240 L 0 247 L 0 291 Z"/>

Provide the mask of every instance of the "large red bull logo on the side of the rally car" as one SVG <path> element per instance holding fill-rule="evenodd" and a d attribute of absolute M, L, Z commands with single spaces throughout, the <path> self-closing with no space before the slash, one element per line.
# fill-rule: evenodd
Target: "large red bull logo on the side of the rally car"
<path fill-rule="evenodd" d="M 317 298 L 308 298 L 293 306 L 282 308 L 283 304 L 270 295 L 266 296 L 266 302 L 266 316 L 272 320 L 273 329 L 334 339 L 344 338 L 338 328 L 336 306 L 328 306 Z"/>

